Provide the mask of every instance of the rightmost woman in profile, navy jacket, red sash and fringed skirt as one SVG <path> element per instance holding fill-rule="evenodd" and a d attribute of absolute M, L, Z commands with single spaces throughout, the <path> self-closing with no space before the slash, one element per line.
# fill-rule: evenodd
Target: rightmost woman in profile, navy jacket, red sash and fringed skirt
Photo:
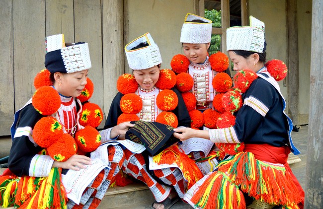
<path fill-rule="evenodd" d="M 234 113 L 235 123 L 232 118 L 218 120 L 219 129 L 174 129 L 180 140 L 201 137 L 222 145 L 244 143 L 244 147 L 227 147 L 230 151 L 243 150 L 186 193 L 191 196 L 184 200 L 193 207 L 212 208 L 228 201 L 232 208 L 254 209 L 260 204 L 263 208 L 304 207 L 304 190 L 287 163 L 291 151 L 300 152 L 291 139 L 293 124 L 284 112 L 286 103 L 275 80 L 277 74 L 271 74 L 265 66 L 264 29 L 264 23 L 252 16 L 250 26 L 227 29 L 227 50 L 234 70 L 252 70 L 257 75 L 255 79 L 237 79 L 243 82 L 239 83 L 243 88 L 249 86 L 242 94 L 243 106 Z"/>

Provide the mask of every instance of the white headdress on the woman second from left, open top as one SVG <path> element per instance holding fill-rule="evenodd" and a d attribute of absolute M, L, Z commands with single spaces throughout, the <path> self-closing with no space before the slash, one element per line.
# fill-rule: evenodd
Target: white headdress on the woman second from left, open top
<path fill-rule="evenodd" d="M 125 46 L 129 67 L 132 70 L 144 70 L 162 63 L 161 53 L 150 33 L 136 38 Z"/>

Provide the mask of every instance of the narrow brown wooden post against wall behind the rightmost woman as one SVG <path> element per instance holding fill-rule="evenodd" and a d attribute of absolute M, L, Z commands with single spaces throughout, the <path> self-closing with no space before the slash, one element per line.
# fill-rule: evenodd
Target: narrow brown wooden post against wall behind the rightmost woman
<path fill-rule="evenodd" d="M 298 65 L 298 29 L 297 0 L 287 0 L 287 33 L 288 33 L 288 114 L 294 125 L 298 124 L 299 104 L 299 65 Z"/>

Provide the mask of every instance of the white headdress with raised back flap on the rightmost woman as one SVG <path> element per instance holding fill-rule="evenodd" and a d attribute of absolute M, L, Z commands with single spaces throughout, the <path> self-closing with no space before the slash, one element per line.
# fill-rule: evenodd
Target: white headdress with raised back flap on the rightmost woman
<path fill-rule="evenodd" d="M 265 23 L 250 16 L 250 26 L 227 29 L 227 51 L 244 50 L 262 53 L 265 48 Z"/>

